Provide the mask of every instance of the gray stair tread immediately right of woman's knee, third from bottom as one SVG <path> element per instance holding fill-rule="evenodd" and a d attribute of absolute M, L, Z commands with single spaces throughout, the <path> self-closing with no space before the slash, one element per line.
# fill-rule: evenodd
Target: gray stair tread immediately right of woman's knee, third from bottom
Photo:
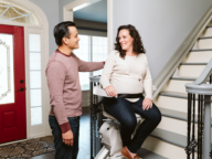
<path fill-rule="evenodd" d="M 171 117 L 171 118 L 174 118 L 174 119 L 181 119 L 181 120 L 184 120 L 184 121 L 188 120 L 188 113 L 167 109 L 167 108 L 161 108 L 161 107 L 159 107 L 159 109 L 160 109 L 162 116 Z M 195 115 L 195 123 L 198 123 L 198 115 Z M 212 118 L 211 118 L 211 126 L 212 126 Z"/>

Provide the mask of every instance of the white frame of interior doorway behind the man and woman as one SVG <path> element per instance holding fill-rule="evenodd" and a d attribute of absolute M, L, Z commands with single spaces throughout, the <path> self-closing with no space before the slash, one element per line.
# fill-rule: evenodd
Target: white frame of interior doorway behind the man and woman
<path fill-rule="evenodd" d="M 76 0 L 63 7 L 63 20 L 74 21 L 73 12 L 91 6 L 100 0 Z M 108 42 L 108 54 L 114 50 L 113 44 L 113 0 L 107 0 L 107 42 Z"/>

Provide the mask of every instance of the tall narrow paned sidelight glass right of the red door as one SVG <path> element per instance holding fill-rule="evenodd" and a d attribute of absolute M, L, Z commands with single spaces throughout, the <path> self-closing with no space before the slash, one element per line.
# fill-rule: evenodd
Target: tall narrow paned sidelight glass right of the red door
<path fill-rule="evenodd" d="M 42 124 L 41 35 L 29 35 L 31 125 Z"/>

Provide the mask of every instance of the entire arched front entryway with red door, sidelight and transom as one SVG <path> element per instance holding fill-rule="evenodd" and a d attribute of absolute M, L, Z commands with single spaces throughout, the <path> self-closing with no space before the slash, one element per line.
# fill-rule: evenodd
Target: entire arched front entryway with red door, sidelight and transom
<path fill-rule="evenodd" d="M 50 135 L 46 15 L 31 1 L 0 0 L 0 144 Z"/>

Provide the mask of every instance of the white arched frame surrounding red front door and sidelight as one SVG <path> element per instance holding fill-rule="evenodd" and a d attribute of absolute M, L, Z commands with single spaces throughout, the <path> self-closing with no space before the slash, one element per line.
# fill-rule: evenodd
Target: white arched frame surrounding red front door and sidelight
<path fill-rule="evenodd" d="M 34 3 L 29 0 L 0 0 L 3 3 L 10 3 L 18 8 L 32 13 L 38 20 L 39 25 L 17 23 L 10 21 L 0 21 L 0 24 L 18 25 L 24 28 L 24 55 L 25 55 L 25 107 L 26 107 L 26 138 L 41 137 L 51 135 L 51 129 L 47 124 L 49 110 L 50 110 L 50 96 L 49 88 L 45 78 L 45 67 L 49 61 L 49 22 L 45 13 Z M 43 125 L 44 128 L 40 132 L 31 131 L 31 99 L 30 99 L 30 60 L 29 60 L 29 34 L 41 34 L 41 73 L 42 73 L 42 112 L 43 112 Z M 14 141 L 15 142 L 15 141 Z"/>

